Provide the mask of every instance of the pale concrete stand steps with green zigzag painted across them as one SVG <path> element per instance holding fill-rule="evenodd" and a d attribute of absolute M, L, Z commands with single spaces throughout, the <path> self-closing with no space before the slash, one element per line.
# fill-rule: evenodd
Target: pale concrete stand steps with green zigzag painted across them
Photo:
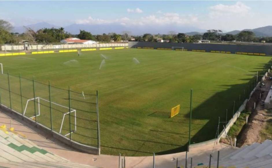
<path fill-rule="evenodd" d="M 0 166 L 4 167 L 90 167 L 54 155 L 15 132 L 6 125 L 0 127 Z"/>

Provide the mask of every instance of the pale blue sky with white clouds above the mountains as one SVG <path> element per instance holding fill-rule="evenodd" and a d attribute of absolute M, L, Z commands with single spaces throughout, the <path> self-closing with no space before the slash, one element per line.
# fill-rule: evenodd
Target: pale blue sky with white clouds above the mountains
<path fill-rule="evenodd" d="M 271 6 L 272 1 L 0 1 L 0 19 L 13 26 L 47 22 L 227 32 L 272 25 Z"/>

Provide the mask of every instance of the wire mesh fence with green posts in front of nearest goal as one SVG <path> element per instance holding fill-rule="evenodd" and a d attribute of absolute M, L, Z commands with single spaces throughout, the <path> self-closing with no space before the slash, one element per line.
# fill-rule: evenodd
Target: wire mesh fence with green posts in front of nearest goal
<path fill-rule="evenodd" d="M 0 74 L 0 104 L 78 143 L 100 148 L 98 92 L 75 92 Z"/>

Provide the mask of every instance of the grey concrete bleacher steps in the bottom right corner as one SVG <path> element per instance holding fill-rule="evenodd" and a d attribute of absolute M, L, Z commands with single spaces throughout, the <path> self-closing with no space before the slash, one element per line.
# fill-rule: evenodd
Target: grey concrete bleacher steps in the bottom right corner
<path fill-rule="evenodd" d="M 219 154 L 220 155 L 220 154 Z M 204 164 L 206 167 L 209 163 Z M 195 166 L 197 168 L 204 165 Z M 211 167 L 217 167 L 217 154 L 211 162 Z M 229 168 L 271 168 L 272 167 L 272 141 L 265 140 L 263 143 L 254 143 L 249 146 L 243 146 L 232 153 L 219 159 L 219 167 Z"/>

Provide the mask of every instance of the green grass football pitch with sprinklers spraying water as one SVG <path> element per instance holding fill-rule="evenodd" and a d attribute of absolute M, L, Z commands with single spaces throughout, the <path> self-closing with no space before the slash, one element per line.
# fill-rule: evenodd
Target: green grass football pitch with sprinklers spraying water
<path fill-rule="evenodd" d="M 106 59 L 99 70 L 101 54 Z M 240 106 L 246 84 L 270 60 L 269 56 L 123 49 L 82 52 L 79 57 L 76 52 L 3 56 L 0 63 L 4 72 L 21 72 L 42 83 L 50 80 L 56 87 L 70 85 L 84 93 L 98 90 L 101 153 L 146 156 L 187 149 L 191 88 L 191 143 L 215 138 L 218 117 L 225 121 L 229 109 L 231 118 L 233 101 Z M 18 85 L 13 88 L 18 90 Z M 169 118 L 178 104 L 180 114 Z M 21 107 L 18 102 L 13 105 Z"/>

